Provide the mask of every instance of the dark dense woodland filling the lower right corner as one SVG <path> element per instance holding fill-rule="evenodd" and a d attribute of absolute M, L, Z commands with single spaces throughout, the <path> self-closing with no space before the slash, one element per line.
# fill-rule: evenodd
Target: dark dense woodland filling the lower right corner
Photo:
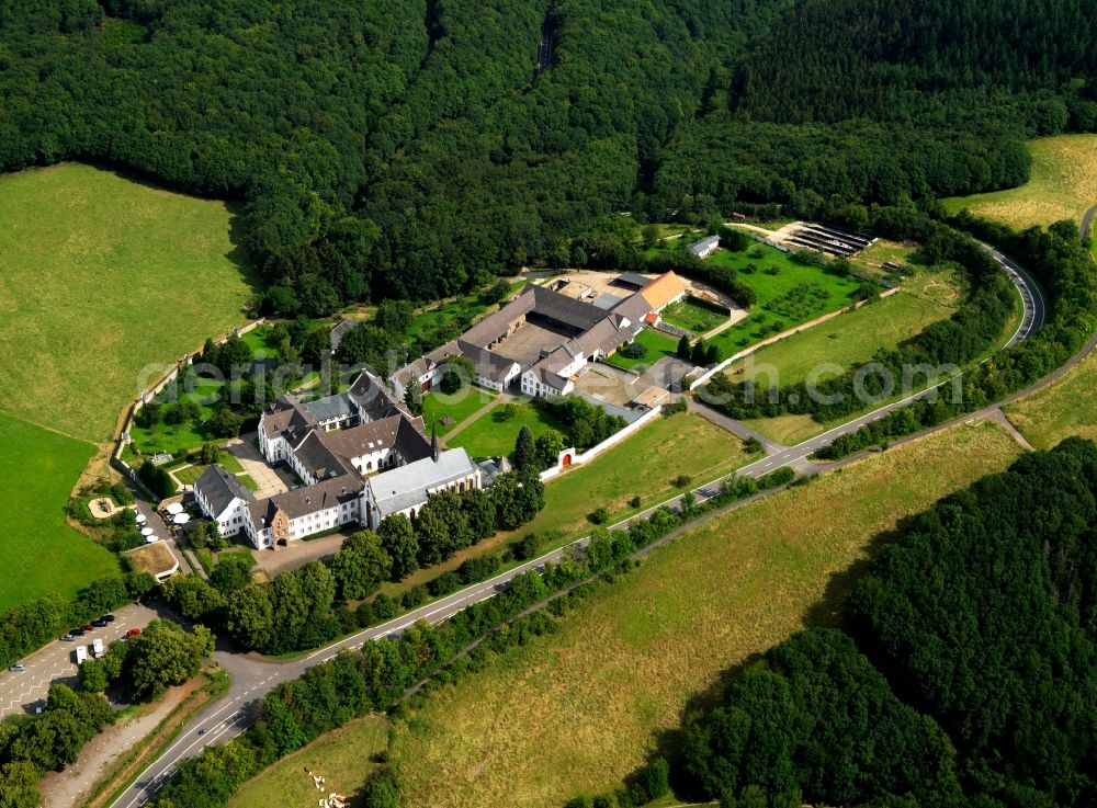
<path fill-rule="evenodd" d="M 1095 494 L 1097 447 L 1072 439 L 907 521 L 844 631 L 770 649 L 687 718 L 678 785 L 725 807 L 1094 805 Z"/>

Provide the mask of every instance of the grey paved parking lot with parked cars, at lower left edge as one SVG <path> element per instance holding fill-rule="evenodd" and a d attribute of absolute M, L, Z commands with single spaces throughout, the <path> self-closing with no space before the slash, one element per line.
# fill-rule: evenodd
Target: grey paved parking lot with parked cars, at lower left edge
<path fill-rule="evenodd" d="M 114 616 L 114 623 L 109 623 L 105 628 L 88 631 L 72 642 L 54 640 L 20 660 L 25 667 L 23 671 L 0 672 L 0 718 L 13 713 L 33 712 L 35 705 L 45 699 L 49 685 L 55 682 L 75 686 L 78 645 L 88 647 L 88 657 L 91 658 L 92 640 L 102 639 L 103 645 L 108 646 L 124 637 L 131 628 L 143 628 L 162 615 L 148 606 L 132 605 L 115 611 Z"/>

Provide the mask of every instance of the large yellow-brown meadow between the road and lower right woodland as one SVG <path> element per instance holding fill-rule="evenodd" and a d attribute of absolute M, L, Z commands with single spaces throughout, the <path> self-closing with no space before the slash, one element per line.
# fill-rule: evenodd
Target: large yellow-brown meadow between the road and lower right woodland
<path fill-rule="evenodd" d="M 659 550 L 395 727 L 406 808 L 556 807 L 608 789 L 722 673 L 827 623 L 881 532 L 1002 470 L 996 425 L 958 426 L 744 507 Z"/>

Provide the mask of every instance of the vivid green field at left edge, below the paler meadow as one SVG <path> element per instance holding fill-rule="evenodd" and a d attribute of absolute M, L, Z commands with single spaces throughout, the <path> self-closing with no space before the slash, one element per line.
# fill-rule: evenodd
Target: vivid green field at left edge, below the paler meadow
<path fill-rule="evenodd" d="M 68 598 L 120 571 L 109 551 L 65 521 L 69 491 L 94 446 L 0 412 L 0 611 L 48 594 Z"/>

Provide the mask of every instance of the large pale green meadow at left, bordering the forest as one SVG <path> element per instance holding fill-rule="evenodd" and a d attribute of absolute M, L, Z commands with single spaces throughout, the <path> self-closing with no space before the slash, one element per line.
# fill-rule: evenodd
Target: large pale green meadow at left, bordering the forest
<path fill-rule="evenodd" d="M 0 408 L 105 441 L 142 368 L 244 321 L 223 203 L 75 163 L 0 178 Z"/>

